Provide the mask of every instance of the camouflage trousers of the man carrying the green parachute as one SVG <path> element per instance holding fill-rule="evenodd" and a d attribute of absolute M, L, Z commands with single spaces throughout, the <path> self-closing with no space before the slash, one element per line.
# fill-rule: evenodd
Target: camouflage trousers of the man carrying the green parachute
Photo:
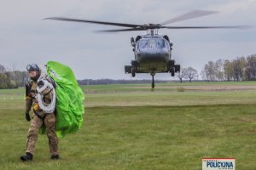
<path fill-rule="evenodd" d="M 53 113 L 47 114 L 44 119 L 34 116 L 31 120 L 31 125 L 27 134 L 26 152 L 34 154 L 35 146 L 38 140 L 38 130 L 43 123 L 46 127 L 46 135 L 49 139 L 49 152 L 52 156 L 59 154 L 58 138 L 55 133 L 55 115 Z"/>

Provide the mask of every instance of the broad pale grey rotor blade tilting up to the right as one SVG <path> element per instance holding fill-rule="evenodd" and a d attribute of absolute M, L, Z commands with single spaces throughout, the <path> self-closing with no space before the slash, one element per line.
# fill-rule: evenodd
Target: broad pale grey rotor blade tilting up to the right
<path fill-rule="evenodd" d="M 206 11 L 206 10 L 194 10 L 194 11 L 191 11 L 187 14 L 183 14 L 181 16 L 173 18 L 171 20 L 166 20 L 166 22 L 163 22 L 160 25 L 164 26 L 164 25 L 171 24 L 171 23 L 174 23 L 174 22 L 194 19 L 194 18 L 197 18 L 197 17 L 205 16 L 205 15 L 208 15 L 208 14 L 215 14 L 215 13 L 218 13 L 218 12 L 216 12 L 216 11 Z"/>

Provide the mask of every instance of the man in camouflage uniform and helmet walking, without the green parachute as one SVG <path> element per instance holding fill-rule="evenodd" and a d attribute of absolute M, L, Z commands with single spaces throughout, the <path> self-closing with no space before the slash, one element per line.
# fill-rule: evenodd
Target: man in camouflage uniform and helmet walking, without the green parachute
<path fill-rule="evenodd" d="M 47 77 L 41 73 L 38 65 L 27 65 L 26 70 L 28 71 L 31 81 L 26 84 L 25 114 L 26 120 L 28 122 L 31 121 L 31 125 L 27 134 L 26 155 L 20 156 L 20 160 L 32 161 L 32 157 L 35 151 L 35 144 L 38 140 L 38 130 L 42 126 L 45 126 L 46 134 L 49 139 L 49 152 L 51 154 L 51 159 L 59 159 L 58 138 L 55 133 L 56 118 L 54 111 L 44 111 L 38 105 L 38 94 L 42 96 L 42 100 L 46 105 L 53 100 L 52 93 L 55 90 L 54 88 L 45 88 L 43 91 L 40 91 L 39 89 L 44 87 L 45 81 L 48 81 L 51 84 L 55 84 L 55 82 L 50 77 Z M 38 91 L 40 93 L 38 93 Z M 34 112 L 32 119 L 29 115 L 31 107 L 33 108 Z"/>

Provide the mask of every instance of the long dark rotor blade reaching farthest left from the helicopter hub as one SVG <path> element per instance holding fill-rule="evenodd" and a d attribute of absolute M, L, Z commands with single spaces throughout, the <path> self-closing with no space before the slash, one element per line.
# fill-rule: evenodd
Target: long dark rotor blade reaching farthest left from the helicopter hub
<path fill-rule="evenodd" d="M 50 18 L 45 18 L 44 20 L 62 20 L 62 21 L 71 21 L 71 22 L 86 22 L 86 23 L 93 23 L 93 24 L 101 24 L 101 25 L 109 25 L 109 26 L 124 26 L 124 27 L 131 27 L 131 28 L 136 28 L 136 27 L 142 26 L 142 25 L 124 24 L 124 23 L 116 23 L 116 22 L 104 22 L 104 21 L 97 21 L 97 20 L 78 20 L 78 19 L 63 18 L 63 17 L 50 17 Z"/>

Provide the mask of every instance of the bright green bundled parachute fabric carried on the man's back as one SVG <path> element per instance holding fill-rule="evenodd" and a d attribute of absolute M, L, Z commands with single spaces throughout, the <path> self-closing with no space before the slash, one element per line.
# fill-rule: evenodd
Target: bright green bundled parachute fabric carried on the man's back
<path fill-rule="evenodd" d="M 73 71 L 55 61 L 47 63 L 47 74 L 53 78 L 57 87 L 56 93 L 56 134 L 64 137 L 75 133 L 82 126 L 84 114 L 84 93 L 74 77 Z"/>

